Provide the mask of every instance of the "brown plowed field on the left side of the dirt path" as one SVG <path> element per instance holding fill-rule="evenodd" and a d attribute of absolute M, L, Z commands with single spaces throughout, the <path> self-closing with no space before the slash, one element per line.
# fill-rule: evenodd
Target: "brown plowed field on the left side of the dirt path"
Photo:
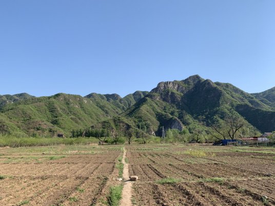
<path fill-rule="evenodd" d="M 0 148 L 0 205 L 101 205 L 122 146 Z"/>

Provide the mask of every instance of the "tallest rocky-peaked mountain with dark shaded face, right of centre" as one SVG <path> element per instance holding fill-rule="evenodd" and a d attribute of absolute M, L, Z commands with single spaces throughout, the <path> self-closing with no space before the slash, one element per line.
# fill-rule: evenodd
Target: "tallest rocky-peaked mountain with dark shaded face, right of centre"
<path fill-rule="evenodd" d="M 242 112 L 240 105 L 246 106 Z M 257 109 L 255 115 L 249 116 L 248 108 Z M 275 130 L 275 112 L 272 110 L 274 108 L 230 84 L 213 83 L 194 75 L 181 81 L 159 83 L 123 115 L 137 126 L 143 124 L 160 134 L 162 126 L 181 130 L 185 125 L 192 130 L 198 126 L 211 126 L 217 117 L 223 119 L 226 114 L 235 113 L 263 132 Z M 263 114 L 261 117 L 258 116 L 260 113 Z M 269 119 L 267 126 L 261 121 L 267 120 L 265 114 Z"/>

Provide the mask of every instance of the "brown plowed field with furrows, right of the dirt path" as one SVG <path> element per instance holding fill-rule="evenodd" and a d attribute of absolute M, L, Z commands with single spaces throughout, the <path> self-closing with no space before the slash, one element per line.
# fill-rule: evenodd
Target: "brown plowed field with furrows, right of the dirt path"
<path fill-rule="evenodd" d="M 275 149 L 126 146 L 135 205 L 275 205 Z M 271 174 L 272 176 L 268 175 Z"/>

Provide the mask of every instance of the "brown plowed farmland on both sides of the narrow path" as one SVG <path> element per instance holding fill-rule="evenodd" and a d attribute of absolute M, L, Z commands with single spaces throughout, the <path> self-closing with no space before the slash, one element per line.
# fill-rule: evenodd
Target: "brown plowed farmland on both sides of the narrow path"
<path fill-rule="evenodd" d="M 123 147 L 133 205 L 275 204 L 275 149 L 162 144 L 0 148 L 0 205 L 108 205 Z"/>

